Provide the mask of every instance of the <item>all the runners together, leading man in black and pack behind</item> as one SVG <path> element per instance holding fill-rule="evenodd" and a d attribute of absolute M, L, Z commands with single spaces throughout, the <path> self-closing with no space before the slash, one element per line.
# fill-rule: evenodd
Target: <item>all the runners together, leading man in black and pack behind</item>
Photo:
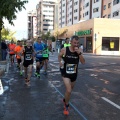
<path fill-rule="evenodd" d="M 11 64 L 14 63 L 14 55 L 16 55 L 20 75 L 23 74 L 22 70 L 24 67 L 25 84 L 28 86 L 30 85 L 34 59 L 36 60 L 35 76 L 40 77 L 40 69 L 43 65 L 45 66 L 44 74 L 47 74 L 47 63 L 49 60 L 50 49 L 45 41 L 41 41 L 42 38 L 38 37 L 34 44 L 31 44 L 31 41 L 27 40 L 25 46 L 22 45 L 21 41 L 18 41 L 17 45 L 14 45 L 13 41 L 11 41 L 11 44 L 9 45 Z M 79 61 L 82 64 L 85 63 L 85 59 L 82 55 L 82 49 L 79 47 L 78 36 L 72 36 L 71 43 L 69 43 L 69 38 L 66 38 L 65 44 L 61 46 L 61 51 L 58 55 L 58 61 L 61 76 L 66 88 L 63 98 L 63 113 L 68 115 L 70 96 L 78 75 L 78 64 Z"/>

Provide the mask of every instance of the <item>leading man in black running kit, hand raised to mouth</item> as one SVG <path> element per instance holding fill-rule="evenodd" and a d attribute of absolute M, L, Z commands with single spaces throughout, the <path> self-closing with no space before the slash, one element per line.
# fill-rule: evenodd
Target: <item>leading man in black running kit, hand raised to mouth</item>
<path fill-rule="evenodd" d="M 64 63 L 62 62 L 62 57 L 64 56 Z M 62 75 L 63 82 L 66 87 L 64 102 L 64 114 L 69 114 L 69 100 L 72 89 L 75 85 L 78 72 L 79 61 L 84 64 L 85 59 L 82 56 L 81 49 L 79 48 L 79 38 L 78 36 L 73 36 L 71 39 L 71 46 L 61 49 L 58 55 L 58 61 L 60 64 L 60 71 Z"/>

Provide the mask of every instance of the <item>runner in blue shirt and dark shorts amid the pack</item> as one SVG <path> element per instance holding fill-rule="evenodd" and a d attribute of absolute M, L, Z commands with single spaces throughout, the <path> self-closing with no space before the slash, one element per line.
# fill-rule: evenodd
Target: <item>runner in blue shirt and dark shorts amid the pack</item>
<path fill-rule="evenodd" d="M 40 78 L 40 68 L 43 66 L 43 50 L 44 43 L 41 42 L 42 38 L 38 37 L 37 42 L 34 44 L 34 50 L 36 54 L 36 72 L 35 76 Z"/>

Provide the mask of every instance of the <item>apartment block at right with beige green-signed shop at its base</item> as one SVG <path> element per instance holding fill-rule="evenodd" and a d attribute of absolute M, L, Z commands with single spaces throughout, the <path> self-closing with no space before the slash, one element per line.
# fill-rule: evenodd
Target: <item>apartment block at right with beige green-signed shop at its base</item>
<path fill-rule="evenodd" d="M 60 0 L 59 39 L 78 35 L 85 52 L 120 55 L 120 0 Z"/>

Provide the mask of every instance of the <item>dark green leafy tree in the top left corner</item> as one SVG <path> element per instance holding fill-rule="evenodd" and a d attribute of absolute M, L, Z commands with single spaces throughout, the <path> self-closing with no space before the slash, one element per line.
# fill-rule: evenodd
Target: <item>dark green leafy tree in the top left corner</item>
<path fill-rule="evenodd" d="M 16 13 L 25 9 L 27 0 L 0 0 L 0 49 L 1 49 L 1 30 L 4 25 L 3 18 L 7 19 L 11 25 L 14 25 L 13 20 L 16 19 Z M 1 50 L 0 50 L 1 51 Z M 1 59 L 1 53 L 0 53 Z"/>

